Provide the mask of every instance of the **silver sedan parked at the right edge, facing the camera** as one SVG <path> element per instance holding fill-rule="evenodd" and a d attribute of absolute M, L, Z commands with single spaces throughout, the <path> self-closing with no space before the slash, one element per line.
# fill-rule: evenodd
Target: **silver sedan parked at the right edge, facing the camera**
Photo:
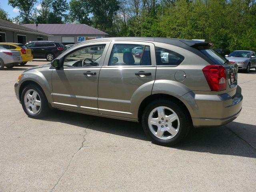
<path fill-rule="evenodd" d="M 230 62 L 235 62 L 238 69 L 250 72 L 251 68 L 256 70 L 256 53 L 254 51 L 238 50 L 233 51 L 229 55 L 225 55 Z"/>

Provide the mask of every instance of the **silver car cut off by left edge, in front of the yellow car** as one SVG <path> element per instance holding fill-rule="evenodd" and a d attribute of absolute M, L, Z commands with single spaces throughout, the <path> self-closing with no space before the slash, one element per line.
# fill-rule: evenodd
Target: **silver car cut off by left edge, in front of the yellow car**
<path fill-rule="evenodd" d="M 22 62 L 22 56 L 19 51 L 11 51 L 0 47 L 0 70 L 4 67 L 13 68 Z"/>

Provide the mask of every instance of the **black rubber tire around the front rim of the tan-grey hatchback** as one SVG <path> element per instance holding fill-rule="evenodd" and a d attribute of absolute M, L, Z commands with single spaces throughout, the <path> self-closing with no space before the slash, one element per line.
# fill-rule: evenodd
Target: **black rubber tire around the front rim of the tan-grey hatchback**
<path fill-rule="evenodd" d="M 24 96 L 25 93 L 28 90 L 35 90 L 38 95 L 40 96 L 40 100 L 41 100 L 41 106 L 40 109 L 38 110 L 38 112 L 36 114 L 32 114 L 30 112 L 28 112 L 28 110 L 26 109 L 25 103 L 24 103 Z M 43 116 L 46 116 L 49 113 L 49 106 L 48 106 L 48 101 L 47 98 L 42 90 L 42 88 L 40 88 L 40 86 L 36 85 L 36 84 L 28 84 L 25 86 L 25 88 L 22 90 L 22 94 L 21 94 L 21 104 L 22 104 L 22 108 L 24 110 L 24 112 L 30 117 L 30 118 L 42 118 Z"/>

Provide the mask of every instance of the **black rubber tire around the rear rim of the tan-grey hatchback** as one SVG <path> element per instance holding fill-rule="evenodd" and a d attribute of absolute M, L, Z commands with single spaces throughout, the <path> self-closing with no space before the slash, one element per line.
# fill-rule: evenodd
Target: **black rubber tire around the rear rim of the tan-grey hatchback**
<path fill-rule="evenodd" d="M 164 106 L 172 109 L 178 116 L 180 127 L 178 130 L 178 133 L 173 138 L 170 138 L 168 140 L 160 139 L 157 136 L 155 136 L 149 128 L 148 125 L 148 118 L 152 110 L 154 110 L 156 107 Z M 165 100 L 165 99 L 159 99 L 155 100 L 154 102 L 150 103 L 144 110 L 142 115 L 142 128 L 145 132 L 145 134 L 152 140 L 152 142 L 163 145 L 163 146 L 173 146 L 177 144 L 178 142 L 181 142 L 190 131 L 190 128 L 192 127 L 192 121 L 190 118 L 190 115 L 187 110 L 184 109 L 183 106 L 180 106 L 179 104 L 176 104 L 175 102 L 172 102 L 171 100 Z"/>

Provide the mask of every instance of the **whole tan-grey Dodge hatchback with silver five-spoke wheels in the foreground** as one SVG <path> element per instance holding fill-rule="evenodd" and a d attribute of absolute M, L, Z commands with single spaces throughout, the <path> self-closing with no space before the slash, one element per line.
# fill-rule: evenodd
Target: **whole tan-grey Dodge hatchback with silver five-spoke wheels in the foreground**
<path fill-rule="evenodd" d="M 140 60 L 132 54 L 135 47 L 143 48 Z M 73 56 L 81 50 L 85 54 Z M 175 57 L 162 60 L 163 52 Z M 237 64 L 219 56 L 208 42 L 101 38 L 27 69 L 14 88 L 31 118 L 45 116 L 51 107 L 141 122 L 153 142 L 170 146 L 192 126 L 219 126 L 239 115 L 243 97 L 237 72 Z"/>

